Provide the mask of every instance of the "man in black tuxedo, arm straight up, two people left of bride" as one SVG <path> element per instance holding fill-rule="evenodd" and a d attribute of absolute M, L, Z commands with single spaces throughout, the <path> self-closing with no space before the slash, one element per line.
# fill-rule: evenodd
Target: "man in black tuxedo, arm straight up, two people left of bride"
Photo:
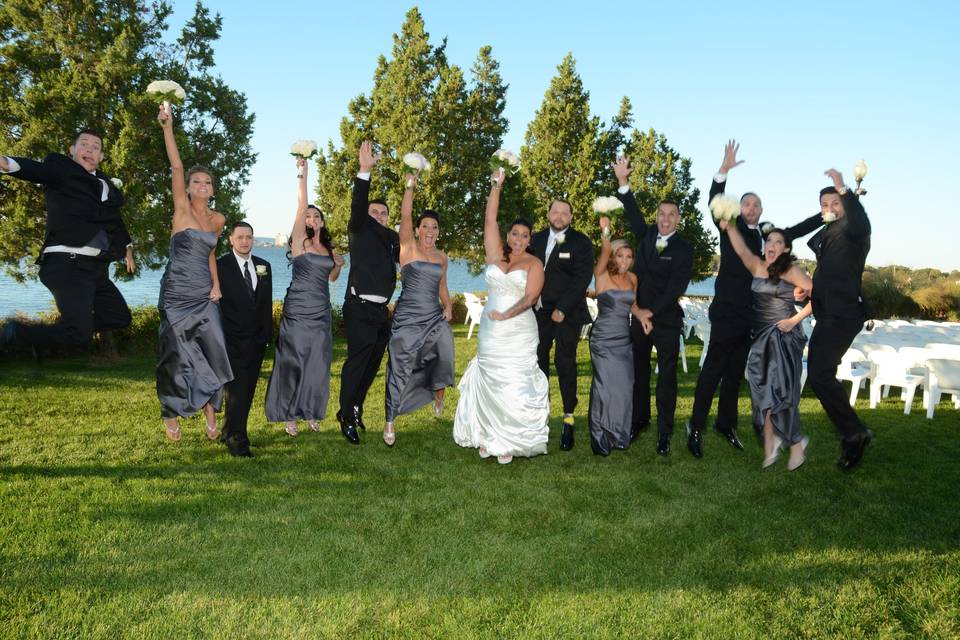
<path fill-rule="evenodd" d="M 397 283 L 400 236 L 388 225 L 387 203 L 369 200 L 370 172 L 379 157 L 373 145 L 360 145 L 360 172 L 353 181 L 350 205 L 350 276 L 343 303 L 347 359 L 340 374 L 340 431 L 351 444 L 360 443 L 363 403 L 377 377 L 390 340 L 387 303 Z"/>

